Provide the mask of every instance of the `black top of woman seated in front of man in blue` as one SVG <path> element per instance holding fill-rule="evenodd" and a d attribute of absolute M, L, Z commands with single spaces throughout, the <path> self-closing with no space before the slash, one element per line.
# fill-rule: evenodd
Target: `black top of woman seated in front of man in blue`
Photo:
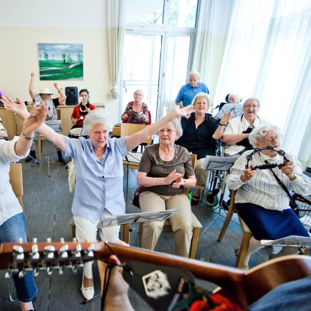
<path fill-rule="evenodd" d="M 213 155 L 215 142 L 212 135 L 219 125 L 219 119 L 215 119 L 209 113 L 205 113 L 205 120 L 198 128 L 195 124 L 195 112 L 192 112 L 189 119 L 181 119 L 183 136 L 176 140 L 176 144 L 183 146 L 187 151 L 197 155 L 197 159 L 205 158 L 206 155 Z"/>

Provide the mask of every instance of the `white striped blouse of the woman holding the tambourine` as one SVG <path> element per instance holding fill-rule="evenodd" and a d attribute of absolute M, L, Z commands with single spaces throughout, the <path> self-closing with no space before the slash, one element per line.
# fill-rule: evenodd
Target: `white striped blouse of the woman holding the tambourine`
<path fill-rule="evenodd" d="M 247 164 L 246 155 L 249 155 L 251 152 L 252 150 L 246 151 L 237 159 L 226 179 L 228 188 L 237 190 L 235 203 L 253 203 L 269 210 L 285 210 L 289 208 L 289 198 L 283 188 L 278 185 L 271 169 L 257 169 L 253 178 L 245 183 L 242 182 L 241 175 Z M 287 153 L 285 156 L 288 160 L 294 162 L 294 172 L 297 178 L 289 180 L 278 167 L 273 169 L 274 173 L 284 183 L 289 192 L 292 190 L 297 194 L 310 194 L 311 178 L 303 174 L 301 162 L 295 155 L 290 153 Z M 274 158 L 269 158 L 263 153 L 255 153 L 252 158 L 253 160 L 249 161 L 249 166 L 264 165 L 264 160 L 267 160 L 270 164 L 283 163 L 283 156 L 278 154 Z"/>

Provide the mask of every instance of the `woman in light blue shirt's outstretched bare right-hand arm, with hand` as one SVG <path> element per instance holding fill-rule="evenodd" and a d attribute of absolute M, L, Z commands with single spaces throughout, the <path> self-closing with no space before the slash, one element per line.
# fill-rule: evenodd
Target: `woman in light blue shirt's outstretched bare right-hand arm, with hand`
<path fill-rule="evenodd" d="M 165 124 L 169 123 L 172 119 L 175 119 L 176 117 L 185 117 L 188 119 L 193 111 L 194 106 L 192 105 L 186 106 L 182 109 L 180 109 L 179 106 L 174 107 L 169 115 L 163 117 L 153 124 L 150 124 L 149 126 L 146 126 L 142 131 L 126 137 L 126 148 L 128 151 L 131 151 L 136 146 L 144 142 L 144 140 L 151 137 L 151 135 L 158 133 L 158 131 L 160 131 L 160 129 L 165 126 Z"/>

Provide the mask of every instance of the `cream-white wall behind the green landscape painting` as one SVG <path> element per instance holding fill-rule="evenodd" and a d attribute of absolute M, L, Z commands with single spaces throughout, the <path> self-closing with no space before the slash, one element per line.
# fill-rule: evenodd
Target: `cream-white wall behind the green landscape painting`
<path fill-rule="evenodd" d="M 35 91 L 54 89 L 56 81 L 39 80 L 37 43 L 83 44 L 83 81 L 57 81 L 60 87 L 90 91 L 91 103 L 103 103 L 114 123 L 119 122 L 119 101 L 108 94 L 112 83 L 108 55 L 106 1 L 103 0 L 0 0 L 0 91 L 31 101 L 31 72 Z"/>

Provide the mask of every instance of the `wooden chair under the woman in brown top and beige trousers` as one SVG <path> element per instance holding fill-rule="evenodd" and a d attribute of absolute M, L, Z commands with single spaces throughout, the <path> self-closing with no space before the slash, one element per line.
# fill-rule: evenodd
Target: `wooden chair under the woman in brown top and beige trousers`
<path fill-rule="evenodd" d="M 194 167 L 196 164 L 196 154 L 190 154 L 191 160 L 192 160 L 192 166 Z M 185 188 L 185 194 L 188 195 L 189 189 Z M 142 245 L 142 234 L 143 234 L 143 224 L 140 223 L 140 247 Z M 202 228 L 202 225 L 200 221 L 196 218 L 194 213 L 192 212 L 192 239 L 190 244 L 190 250 L 189 250 L 189 258 L 195 258 L 196 257 L 196 248 L 198 246 L 199 241 L 199 235 L 200 235 L 200 229 Z M 165 224 L 163 226 L 163 231 L 169 231 L 171 232 L 171 224 L 169 222 L 169 218 L 165 220 Z"/>

